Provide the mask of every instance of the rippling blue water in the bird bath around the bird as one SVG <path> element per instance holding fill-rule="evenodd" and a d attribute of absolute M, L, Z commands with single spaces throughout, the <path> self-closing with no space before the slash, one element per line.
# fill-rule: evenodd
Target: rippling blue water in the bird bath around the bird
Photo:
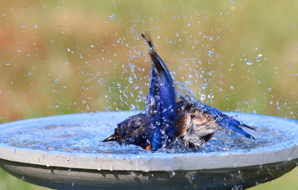
<path fill-rule="evenodd" d="M 49 119 L 48 123 L 40 123 L 37 119 L 18 125 L 14 129 L 2 129 L 1 143 L 7 146 L 25 147 L 40 150 L 58 150 L 80 153 L 112 153 L 112 154 L 142 154 L 151 151 L 143 150 L 134 145 L 120 146 L 116 142 L 103 143 L 102 140 L 114 132 L 117 123 L 135 112 L 104 112 L 98 114 L 85 114 L 89 118 L 85 122 L 75 122 L 79 114 L 68 115 L 67 120 L 55 121 Z M 278 143 L 291 141 L 292 134 L 297 134 L 298 124 L 293 120 L 272 120 L 274 117 L 226 113 L 237 120 L 253 126 L 256 131 L 246 129 L 255 139 L 245 138 L 242 135 L 216 132 L 213 138 L 203 148 L 192 150 L 181 145 L 179 139 L 172 143 L 171 148 L 160 149 L 157 152 L 187 153 L 187 152 L 218 152 L 237 149 L 251 150 Z M 64 116 L 65 118 L 65 116 Z M 274 137 L 274 138 L 273 138 Z"/>

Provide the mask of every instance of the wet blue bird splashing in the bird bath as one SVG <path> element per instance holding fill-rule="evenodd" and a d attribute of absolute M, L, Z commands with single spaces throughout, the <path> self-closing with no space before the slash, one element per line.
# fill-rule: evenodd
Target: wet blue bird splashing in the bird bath
<path fill-rule="evenodd" d="M 175 86 L 164 61 L 156 53 L 149 38 L 141 34 L 149 46 L 152 69 L 145 112 L 130 116 L 117 124 L 114 133 L 103 142 L 117 141 L 156 151 L 167 147 L 174 139 L 192 149 L 202 147 L 215 131 L 234 131 L 247 138 L 252 135 L 242 129 L 251 126 L 229 117 L 221 110 L 189 96 L 176 102 Z"/>

